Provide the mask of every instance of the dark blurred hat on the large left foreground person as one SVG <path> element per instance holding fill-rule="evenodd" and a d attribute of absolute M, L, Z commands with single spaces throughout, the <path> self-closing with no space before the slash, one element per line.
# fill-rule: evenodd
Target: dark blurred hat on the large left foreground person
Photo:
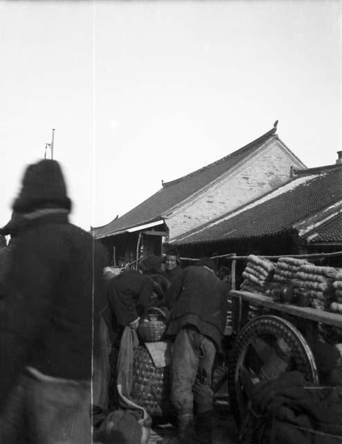
<path fill-rule="evenodd" d="M 55 160 L 41 160 L 28 165 L 19 196 L 12 205 L 13 210 L 28 213 L 39 208 L 54 207 L 71 210 L 60 164 Z"/>

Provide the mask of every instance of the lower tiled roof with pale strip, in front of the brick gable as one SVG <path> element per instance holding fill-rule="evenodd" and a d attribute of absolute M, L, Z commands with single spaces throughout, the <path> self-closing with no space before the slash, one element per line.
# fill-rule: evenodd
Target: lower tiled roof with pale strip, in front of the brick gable
<path fill-rule="evenodd" d="M 341 201 L 341 190 L 341 166 L 300 176 L 239 210 L 182 234 L 174 243 L 210 243 L 288 232 L 296 223 Z"/>

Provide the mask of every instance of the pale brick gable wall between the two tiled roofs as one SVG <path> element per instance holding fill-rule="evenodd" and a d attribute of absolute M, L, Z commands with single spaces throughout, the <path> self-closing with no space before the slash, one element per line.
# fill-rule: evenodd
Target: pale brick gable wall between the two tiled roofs
<path fill-rule="evenodd" d="M 246 167 L 165 219 L 170 230 L 170 239 L 278 187 L 289 180 L 291 166 L 297 168 L 298 164 L 277 142 L 273 142 L 266 150 L 255 155 Z"/>

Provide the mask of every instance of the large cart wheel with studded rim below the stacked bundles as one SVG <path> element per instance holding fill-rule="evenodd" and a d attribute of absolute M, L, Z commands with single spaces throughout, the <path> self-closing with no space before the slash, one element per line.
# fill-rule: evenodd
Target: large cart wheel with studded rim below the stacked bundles
<path fill-rule="evenodd" d="M 294 325 L 278 316 L 258 316 L 247 323 L 237 336 L 228 364 L 228 393 L 233 418 L 240 429 L 240 433 L 244 434 L 241 430 L 244 428 L 247 435 L 249 435 L 249 438 L 245 436 L 244 443 L 253 440 L 251 429 L 258 428 L 260 426 L 258 422 L 260 421 L 255 421 L 253 414 L 251 414 L 251 402 L 240 381 L 240 370 L 251 368 L 250 362 L 247 362 L 248 360 L 255 364 L 258 359 L 260 362 L 256 362 L 256 367 L 259 365 L 260 368 L 264 362 L 262 355 L 267 353 L 267 348 L 271 350 L 273 344 L 280 338 L 291 348 L 290 369 L 300 371 L 307 382 L 318 383 L 318 373 L 312 351 L 303 335 Z M 253 348 L 252 342 L 257 339 L 264 344 L 262 353 L 255 352 Z M 253 354 L 255 359 L 253 359 Z M 254 368 L 252 371 L 258 373 L 258 368 Z M 249 418 L 249 420 L 246 418 Z"/>

